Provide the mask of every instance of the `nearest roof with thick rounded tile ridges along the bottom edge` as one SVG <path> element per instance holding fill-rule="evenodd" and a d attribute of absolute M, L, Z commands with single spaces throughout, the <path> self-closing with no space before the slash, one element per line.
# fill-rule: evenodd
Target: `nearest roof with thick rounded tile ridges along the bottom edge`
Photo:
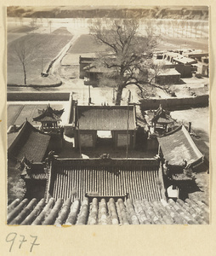
<path fill-rule="evenodd" d="M 203 201 L 147 201 L 122 199 L 50 198 L 15 200 L 8 207 L 8 224 L 208 224 L 209 209 Z"/>

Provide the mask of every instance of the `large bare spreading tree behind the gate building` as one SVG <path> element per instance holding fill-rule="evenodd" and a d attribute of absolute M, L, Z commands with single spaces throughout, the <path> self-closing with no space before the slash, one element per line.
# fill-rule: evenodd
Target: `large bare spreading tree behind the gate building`
<path fill-rule="evenodd" d="M 116 105 L 121 105 L 122 90 L 129 84 L 135 84 L 142 96 L 146 86 L 160 87 L 153 84 L 152 73 L 151 79 L 148 74 L 154 70 L 152 53 L 157 45 L 151 26 L 146 26 L 145 36 L 139 35 L 137 20 L 113 20 L 110 26 L 97 20 L 89 29 L 100 44 L 107 46 L 92 65 L 102 73 L 99 85 L 116 88 Z"/>

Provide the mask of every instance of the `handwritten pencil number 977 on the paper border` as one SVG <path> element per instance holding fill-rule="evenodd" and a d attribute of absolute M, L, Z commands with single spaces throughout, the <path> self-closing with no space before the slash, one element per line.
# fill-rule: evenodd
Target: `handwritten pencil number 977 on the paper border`
<path fill-rule="evenodd" d="M 6 241 L 7 241 L 7 242 L 11 242 L 11 245 L 10 245 L 10 247 L 9 247 L 9 252 L 11 252 L 11 250 L 13 249 L 13 247 L 14 247 L 14 241 L 15 241 L 16 239 L 18 239 L 18 238 L 17 238 L 17 233 L 9 233 L 9 235 L 6 236 Z M 32 252 L 32 249 L 33 249 L 34 246 L 40 245 L 39 243 L 36 243 L 36 241 L 37 241 L 37 236 L 31 236 L 31 241 L 28 241 L 28 240 L 26 240 L 26 237 L 25 237 L 25 236 L 20 235 L 20 240 L 19 240 L 20 246 L 19 246 L 19 249 L 22 247 L 22 244 L 23 244 L 24 242 L 30 242 L 30 244 L 31 244 L 30 252 Z"/>

